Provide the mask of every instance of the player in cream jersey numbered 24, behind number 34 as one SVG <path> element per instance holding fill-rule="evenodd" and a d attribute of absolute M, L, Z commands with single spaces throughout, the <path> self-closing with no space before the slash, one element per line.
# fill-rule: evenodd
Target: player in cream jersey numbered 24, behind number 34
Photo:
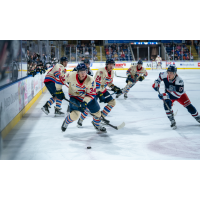
<path fill-rule="evenodd" d="M 96 100 L 99 98 L 100 103 L 102 102 L 107 103 L 107 105 L 104 107 L 103 111 L 101 112 L 102 120 L 105 123 L 109 123 L 109 121 L 105 119 L 105 117 L 110 113 L 110 111 L 116 104 L 115 99 L 113 99 L 113 97 L 107 91 L 106 87 L 107 86 L 111 87 L 112 91 L 116 92 L 117 94 L 120 94 L 122 92 L 120 88 L 118 88 L 112 83 L 113 77 L 114 77 L 114 72 L 113 72 L 114 67 L 115 67 L 115 61 L 113 59 L 108 59 L 106 61 L 106 67 L 99 69 L 94 76 L 94 79 L 96 82 L 96 91 L 97 91 L 97 96 L 95 98 Z M 82 127 L 83 120 L 87 117 L 88 112 L 89 110 L 86 109 L 84 113 L 81 113 L 81 116 L 77 123 L 78 127 Z"/>

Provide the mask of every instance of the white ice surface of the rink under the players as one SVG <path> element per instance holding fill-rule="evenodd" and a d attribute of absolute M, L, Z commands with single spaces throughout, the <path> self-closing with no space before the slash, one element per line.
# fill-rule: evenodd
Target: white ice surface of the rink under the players
<path fill-rule="evenodd" d="M 113 125 L 125 122 L 125 127 L 115 130 L 109 126 L 106 133 L 97 132 L 88 116 L 83 128 L 77 122 L 61 131 L 64 117 L 55 117 L 51 107 L 47 116 L 41 107 L 50 98 L 46 90 L 22 120 L 6 136 L 1 159 L 11 160 L 199 160 L 200 124 L 178 102 L 173 110 L 177 129 L 171 130 L 163 102 L 152 88 L 162 70 L 148 70 L 148 77 L 138 82 L 128 93 L 116 99 L 117 104 L 107 119 Z M 95 71 L 94 71 L 95 73 Z M 117 70 L 126 76 L 126 70 Z M 185 91 L 200 113 L 200 70 L 178 70 Z M 125 78 L 114 78 L 114 84 L 125 86 Z M 67 94 L 67 87 L 63 86 Z M 164 91 L 161 84 L 160 91 Z M 111 92 L 112 93 L 112 92 Z M 104 107 L 101 103 L 101 109 Z M 66 113 L 68 103 L 63 101 Z M 91 149 L 87 149 L 90 146 Z"/>

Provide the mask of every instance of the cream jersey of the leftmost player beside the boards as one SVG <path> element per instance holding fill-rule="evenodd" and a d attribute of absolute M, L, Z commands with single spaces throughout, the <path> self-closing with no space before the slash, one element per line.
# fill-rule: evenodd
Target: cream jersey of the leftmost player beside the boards
<path fill-rule="evenodd" d="M 61 64 L 56 64 L 45 76 L 44 82 L 52 81 L 54 83 L 62 85 L 59 76 L 65 75 L 67 70 Z"/>

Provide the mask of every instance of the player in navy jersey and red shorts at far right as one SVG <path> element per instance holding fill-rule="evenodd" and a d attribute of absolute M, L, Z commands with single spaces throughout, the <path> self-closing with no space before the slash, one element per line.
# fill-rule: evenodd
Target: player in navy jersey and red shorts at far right
<path fill-rule="evenodd" d="M 171 122 L 172 129 L 176 129 L 176 122 L 173 111 L 171 110 L 174 101 L 178 101 L 181 105 L 187 108 L 188 112 L 200 123 L 200 116 L 184 91 L 183 79 L 178 76 L 175 65 L 170 65 L 166 72 L 161 72 L 159 74 L 158 79 L 155 80 L 152 85 L 155 91 L 159 90 L 161 81 L 165 84 L 165 93 L 159 94 L 158 97 L 164 100 L 168 105 L 166 106 L 164 104 L 164 109 Z"/>

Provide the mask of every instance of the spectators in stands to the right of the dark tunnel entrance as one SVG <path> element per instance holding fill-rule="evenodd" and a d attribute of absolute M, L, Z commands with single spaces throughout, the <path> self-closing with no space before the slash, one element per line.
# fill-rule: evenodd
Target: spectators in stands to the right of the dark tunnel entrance
<path fill-rule="evenodd" d="M 190 60 L 190 50 L 185 44 L 167 43 L 165 44 L 166 51 L 170 60 Z M 191 54 L 191 60 L 193 55 Z"/>

